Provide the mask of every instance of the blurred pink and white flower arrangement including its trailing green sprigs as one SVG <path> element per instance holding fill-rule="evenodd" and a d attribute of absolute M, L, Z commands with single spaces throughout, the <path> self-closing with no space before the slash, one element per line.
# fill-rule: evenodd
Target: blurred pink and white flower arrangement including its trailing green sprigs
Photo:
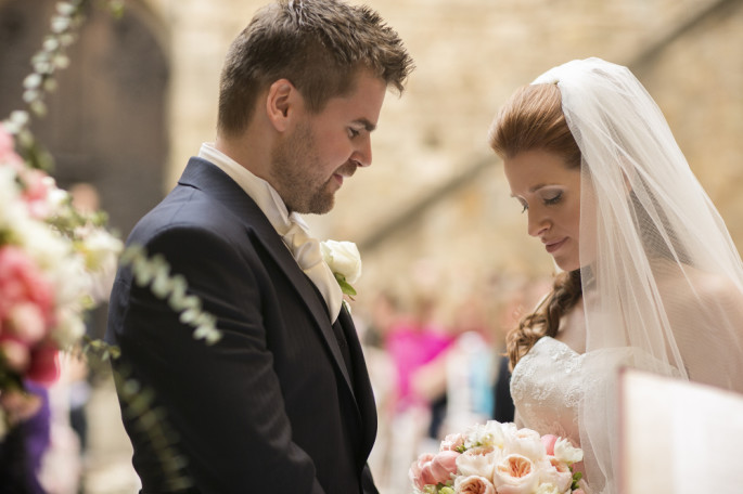
<path fill-rule="evenodd" d="M 106 230 L 104 211 L 74 207 L 71 194 L 49 173 L 52 156 L 30 131 L 31 118 L 47 114 L 44 96 L 56 88 L 56 70 L 69 65 L 66 51 L 91 3 L 55 4 L 50 32 L 23 82 L 27 109 L 0 121 L 0 443 L 10 427 L 38 410 L 37 396 L 26 390 L 37 388 L 34 382 L 48 386 L 56 380 L 61 351 L 79 349 L 102 360 L 118 356 L 118 348 L 85 337 L 86 313 L 107 299 L 117 261 L 134 272 L 138 285 L 166 300 L 183 324 L 193 327 L 195 339 L 215 344 L 221 338 L 216 318 L 188 292 L 185 280 L 172 274 L 165 259 L 137 246 L 123 251 L 120 240 Z M 114 16 L 123 14 L 123 0 L 100 3 Z M 154 406 L 152 390 L 131 378 L 126 367 L 114 369 L 113 377 L 119 399 L 130 405 L 138 429 L 153 445 L 164 485 L 188 489 L 184 460 L 171 447 L 174 434 L 165 414 Z M 7 458 L 18 455 L 9 468 L 25 461 L 22 450 L 5 450 Z"/>

